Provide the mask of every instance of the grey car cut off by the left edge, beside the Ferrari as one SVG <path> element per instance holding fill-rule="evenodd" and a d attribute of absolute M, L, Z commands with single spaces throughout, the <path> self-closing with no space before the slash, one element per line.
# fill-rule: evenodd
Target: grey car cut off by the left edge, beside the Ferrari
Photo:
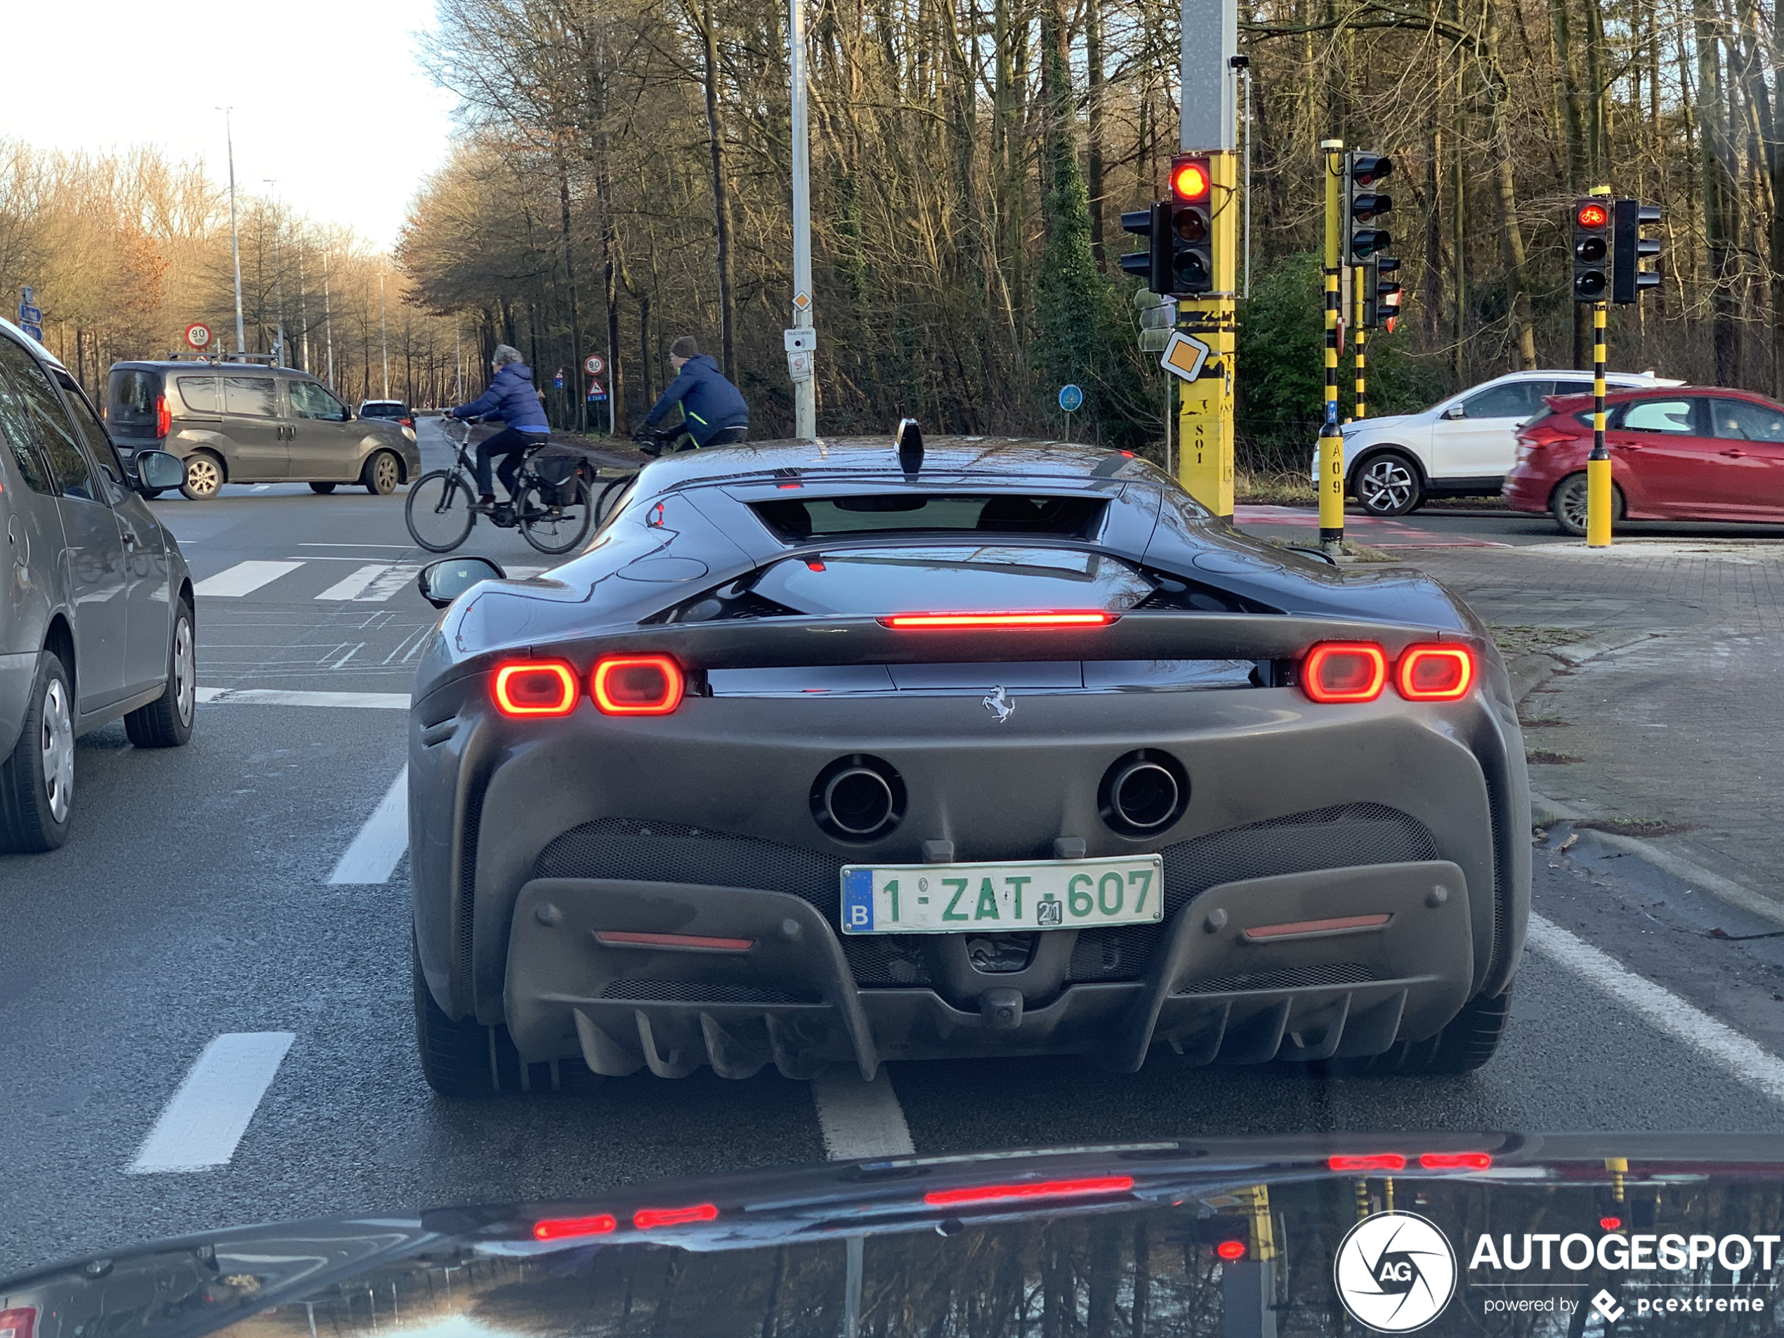
<path fill-rule="evenodd" d="M 120 715 L 137 747 L 193 737 L 193 578 L 73 376 L 0 321 L 0 851 L 48 851 L 73 821 L 75 737 Z"/>

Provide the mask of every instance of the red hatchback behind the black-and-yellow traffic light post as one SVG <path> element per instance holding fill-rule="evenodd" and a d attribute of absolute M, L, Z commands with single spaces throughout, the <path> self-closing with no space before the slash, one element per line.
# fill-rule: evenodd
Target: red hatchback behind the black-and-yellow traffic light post
<path fill-rule="evenodd" d="M 1513 510 L 1586 533 L 1591 396 L 1549 396 L 1518 428 L 1506 475 Z M 1604 398 L 1613 516 L 1632 521 L 1784 523 L 1784 405 L 1750 391 L 1672 385 Z"/>

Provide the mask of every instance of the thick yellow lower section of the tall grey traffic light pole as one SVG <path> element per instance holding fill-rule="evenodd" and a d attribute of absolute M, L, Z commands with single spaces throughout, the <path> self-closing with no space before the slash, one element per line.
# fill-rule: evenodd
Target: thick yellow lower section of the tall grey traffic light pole
<path fill-rule="evenodd" d="M 1213 291 L 1177 300 L 1177 328 L 1208 344 L 1208 357 L 1201 376 L 1177 384 L 1177 482 L 1215 516 L 1231 516 L 1238 153 L 1210 150 L 1206 157 Z"/>

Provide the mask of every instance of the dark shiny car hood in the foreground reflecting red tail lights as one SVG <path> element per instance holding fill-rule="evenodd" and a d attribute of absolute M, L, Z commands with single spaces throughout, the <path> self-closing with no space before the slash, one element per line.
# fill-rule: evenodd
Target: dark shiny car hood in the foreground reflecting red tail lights
<path fill-rule="evenodd" d="M 1770 1311 L 1780 1190 L 1784 1140 L 1759 1135 L 910 1156 L 205 1233 L 0 1281 L 0 1322 L 20 1338 L 234 1326 L 389 1338 L 446 1324 L 755 1338 L 869 1322 L 888 1336 L 1020 1333 L 1088 1315 L 1092 1334 L 1236 1336 L 1340 1333 L 1343 1308 L 1379 1322 L 1384 1306 L 1422 1306 L 1429 1333 L 1509 1334 L 1531 1333 L 1532 1315 L 1559 1333 L 1568 1308 L 1697 1318 L 1720 1301 L 1716 1322 L 1670 1331 L 1757 1333 L 1773 1326 L 1720 1322 L 1734 1299 Z"/>

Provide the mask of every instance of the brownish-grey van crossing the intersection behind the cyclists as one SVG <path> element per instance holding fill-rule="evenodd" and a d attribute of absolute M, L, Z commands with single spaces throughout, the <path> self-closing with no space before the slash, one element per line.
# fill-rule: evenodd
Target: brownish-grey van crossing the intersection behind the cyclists
<path fill-rule="evenodd" d="M 255 353 L 114 362 L 105 423 L 127 464 L 145 448 L 180 457 L 193 501 L 225 483 L 364 483 L 382 498 L 421 473 L 414 428 L 359 417 L 307 371 Z"/>

